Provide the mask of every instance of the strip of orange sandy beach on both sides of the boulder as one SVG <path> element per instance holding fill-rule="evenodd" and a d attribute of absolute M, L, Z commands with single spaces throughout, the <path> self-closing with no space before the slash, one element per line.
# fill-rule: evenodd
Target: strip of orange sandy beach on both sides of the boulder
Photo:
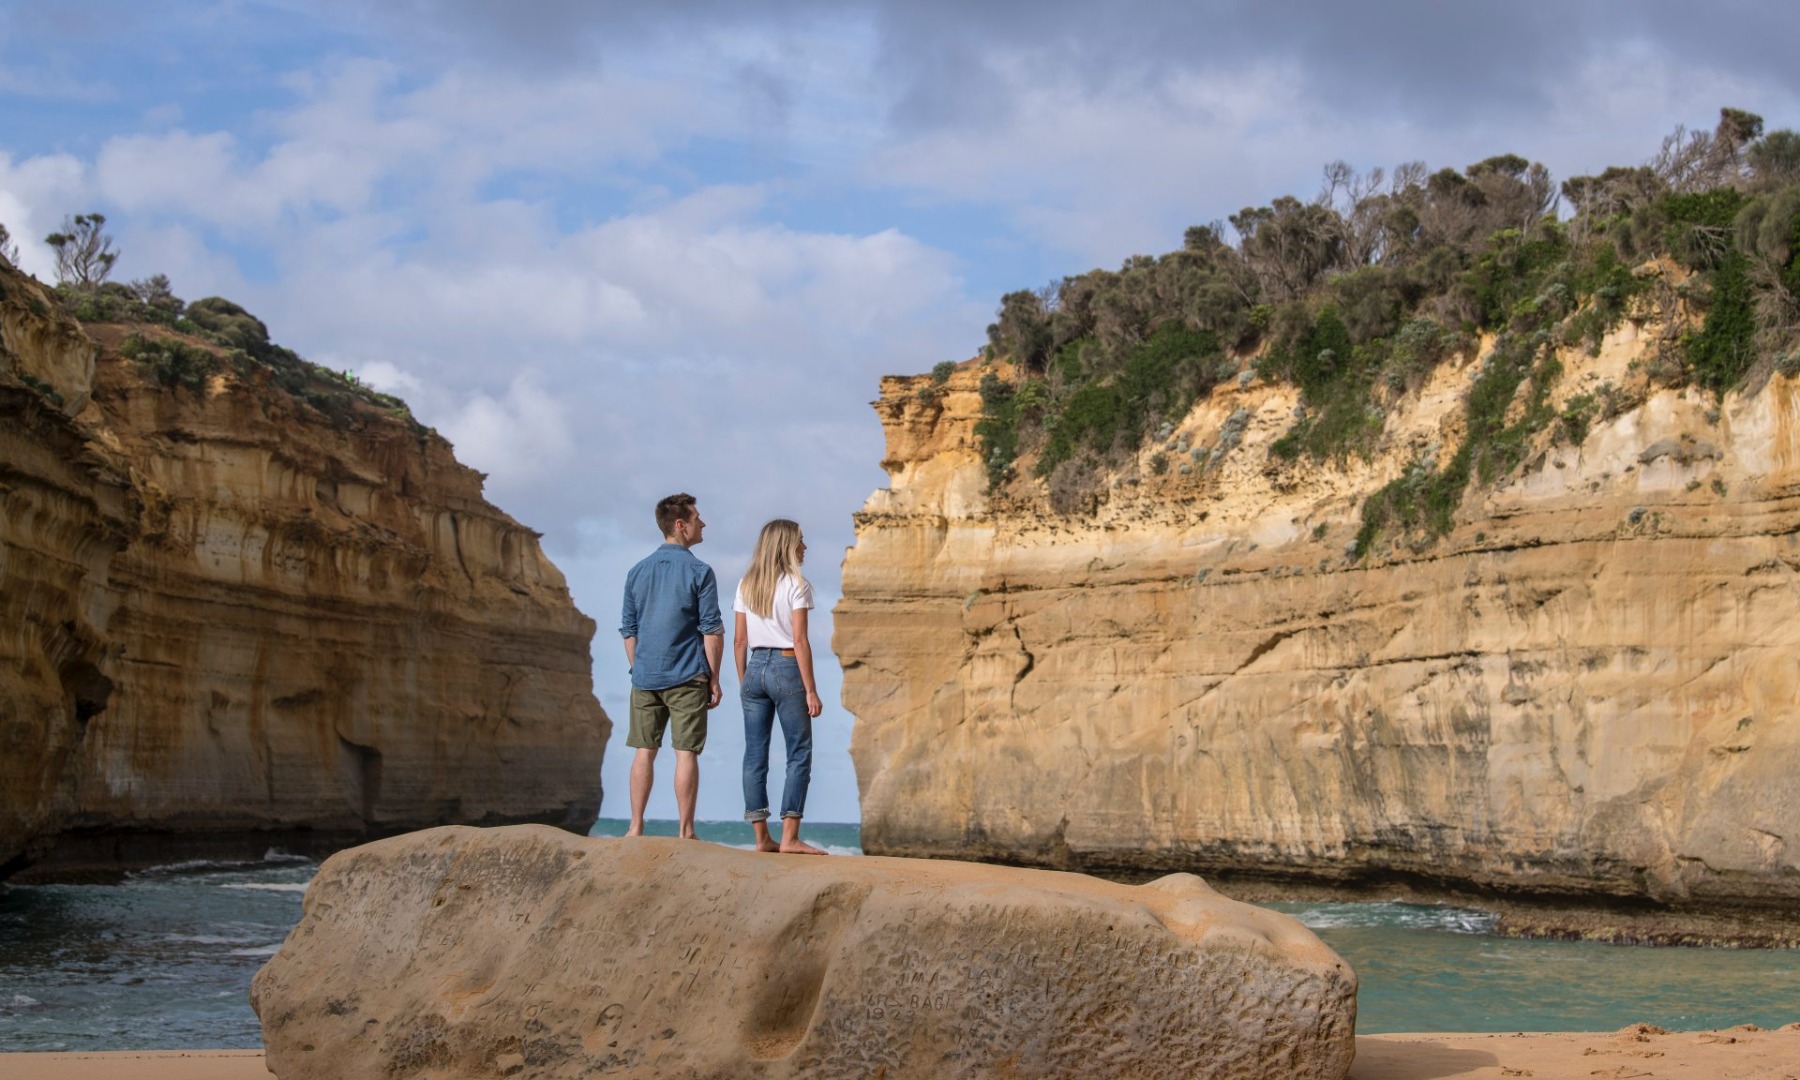
<path fill-rule="evenodd" d="M 0 1080 L 266 1080 L 256 1049 L 5 1053 Z M 1350 1080 L 1800 1080 L 1800 1024 L 1777 1031 L 1361 1035 Z"/>

